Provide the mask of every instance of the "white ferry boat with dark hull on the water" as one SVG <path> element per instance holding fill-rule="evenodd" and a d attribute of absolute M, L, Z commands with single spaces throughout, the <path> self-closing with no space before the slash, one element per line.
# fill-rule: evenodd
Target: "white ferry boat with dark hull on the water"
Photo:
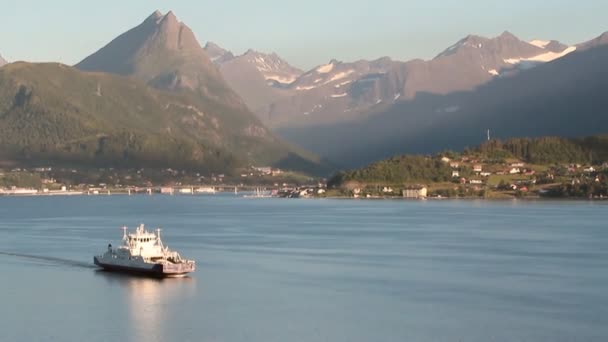
<path fill-rule="evenodd" d="M 93 258 L 95 265 L 108 271 L 138 273 L 156 277 L 185 276 L 195 270 L 195 261 L 182 259 L 160 239 L 160 229 L 148 232 L 141 224 L 135 233 L 123 227 L 122 246 L 112 247 Z"/>

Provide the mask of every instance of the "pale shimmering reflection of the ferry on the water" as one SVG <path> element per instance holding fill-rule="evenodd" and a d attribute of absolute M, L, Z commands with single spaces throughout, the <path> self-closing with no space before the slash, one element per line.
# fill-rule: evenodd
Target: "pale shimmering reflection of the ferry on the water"
<path fill-rule="evenodd" d="M 104 270 L 96 270 L 95 275 L 109 285 L 123 289 L 131 341 L 166 341 L 170 338 L 171 314 L 179 310 L 180 302 L 196 292 L 196 281 L 191 277 L 160 279 Z"/>

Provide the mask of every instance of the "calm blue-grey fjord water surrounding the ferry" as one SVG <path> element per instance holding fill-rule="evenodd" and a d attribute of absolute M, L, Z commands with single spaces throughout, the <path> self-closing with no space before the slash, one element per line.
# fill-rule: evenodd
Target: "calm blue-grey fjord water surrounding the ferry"
<path fill-rule="evenodd" d="M 0 341 L 606 341 L 607 203 L 0 198 Z M 190 278 L 99 272 L 164 228 Z"/>

